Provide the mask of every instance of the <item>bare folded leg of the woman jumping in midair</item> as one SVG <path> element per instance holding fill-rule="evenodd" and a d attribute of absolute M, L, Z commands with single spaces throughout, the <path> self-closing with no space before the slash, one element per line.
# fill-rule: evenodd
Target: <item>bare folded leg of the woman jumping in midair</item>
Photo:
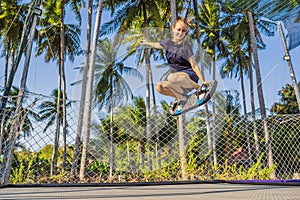
<path fill-rule="evenodd" d="M 185 89 L 198 89 L 199 85 L 190 79 L 189 75 L 183 72 L 172 73 L 167 81 L 156 84 L 159 93 L 172 96 L 177 99 L 185 99 Z"/>

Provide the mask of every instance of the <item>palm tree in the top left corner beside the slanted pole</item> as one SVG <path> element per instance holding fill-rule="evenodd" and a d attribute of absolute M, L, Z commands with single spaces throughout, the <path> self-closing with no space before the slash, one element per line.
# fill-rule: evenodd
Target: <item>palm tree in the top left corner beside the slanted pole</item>
<path fill-rule="evenodd" d="M 4 108 L 7 103 L 7 96 L 11 90 L 13 80 L 18 69 L 21 57 L 24 53 L 25 45 L 27 43 L 29 31 L 28 27 L 31 26 L 33 15 L 33 9 L 35 7 L 35 2 L 32 2 L 28 7 L 27 5 L 19 6 L 17 1 L 4 1 L 1 5 L 2 14 L 0 18 L 0 23 L 3 28 L 0 29 L 0 34 L 3 35 L 3 41 L 5 44 L 5 72 L 4 72 L 4 92 L 3 98 L 1 98 L 0 107 L 0 122 L 2 122 L 2 116 Z M 24 7 L 24 9 L 22 9 Z M 16 12 L 17 11 L 17 12 Z M 13 20 L 12 20 L 13 19 Z M 23 27 L 23 29 L 21 28 Z M 11 53 L 9 53 L 11 52 Z M 11 55 L 9 55 L 11 54 Z M 8 76 L 8 63 L 10 57 L 10 71 Z"/>

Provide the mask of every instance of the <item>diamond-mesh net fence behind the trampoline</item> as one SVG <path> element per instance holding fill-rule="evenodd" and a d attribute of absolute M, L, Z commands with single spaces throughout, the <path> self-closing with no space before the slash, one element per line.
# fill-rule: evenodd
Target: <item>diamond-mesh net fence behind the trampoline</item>
<path fill-rule="evenodd" d="M 93 114 L 82 164 L 82 145 L 75 147 L 79 102 L 68 102 L 63 134 L 54 96 L 26 93 L 18 115 L 17 99 L 1 110 L 2 184 L 299 178 L 300 115 L 268 116 L 268 138 L 259 116 L 218 107 L 214 114 L 211 105 L 172 117 L 162 104 L 147 125 L 145 103 L 135 98 L 112 115 Z"/>

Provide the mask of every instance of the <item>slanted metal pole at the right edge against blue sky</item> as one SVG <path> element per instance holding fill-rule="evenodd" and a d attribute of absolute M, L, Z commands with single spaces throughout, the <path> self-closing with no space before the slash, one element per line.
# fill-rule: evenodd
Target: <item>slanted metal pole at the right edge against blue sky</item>
<path fill-rule="evenodd" d="M 299 88 L 298 88 L 295 72 L 294 72 L 294 69 L 293 69 L 291 56 L 289 55 L 289 50 L 286 46 L 286 40 L 285 40 L 283 31 L 282 31 L 281 22 L 278 22 L 278 28 L 279 28 L 279 33 L 280 33 L 280 36 L 281 36 L 281 40 L 282 40 L 282 44 L 283 44 L 283 48 L 284 48 L 284 52 L 285 52 L 283 60 L 286 60 L 287 63 L 288 63 L 288 67 L 289 67 L 289 70 L 290 70 L 290 76 L 291 76 L 291 79 L 292 79 L 292 84 L 293 84 L 293 87 L 294 87 L 294 90 L 295 90 L 295 95 L 296 95 L 296 99 L 297 99 L 297 103 L 298 103 L 298 109 L 300 111 Z"/>

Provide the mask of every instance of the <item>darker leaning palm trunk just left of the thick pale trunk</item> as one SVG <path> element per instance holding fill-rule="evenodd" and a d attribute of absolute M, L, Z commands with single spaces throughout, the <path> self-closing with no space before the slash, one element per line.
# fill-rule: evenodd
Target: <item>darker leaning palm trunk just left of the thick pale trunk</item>
<path fill-rule="evenodd" d="M 83 66 L 81 97 L 80 97 L 80 106 L 79 106 L 76 139 L 75 139 L 75 147 L 74 147 L 74 158 L 72 160 L 72 169 L 71 169 L 71 173 L 73 176 L 75 176 L 76 172 L 77 172 L 76 169 L 77 169 L 77 163 L 78 163 L 78 157 L 79 157 L 80 140 L 81 140 L 80 138 L 81 138 L 81 132 L 82 132 L 82 125 L 83 125 L 87 74 L 88 74 L 88 70 L 89 70 L 89 56 L 90 56 L 90 46 L 91 46 L 92 10 L 93 10 L 93 0 L 89 0 L 88 23 L 87 23 L 87 33 L 86 33 L 86 49 L 85 49 L 86 55 L 85 55 L 85 61 L 84 61 L 84 66 Z"/>

